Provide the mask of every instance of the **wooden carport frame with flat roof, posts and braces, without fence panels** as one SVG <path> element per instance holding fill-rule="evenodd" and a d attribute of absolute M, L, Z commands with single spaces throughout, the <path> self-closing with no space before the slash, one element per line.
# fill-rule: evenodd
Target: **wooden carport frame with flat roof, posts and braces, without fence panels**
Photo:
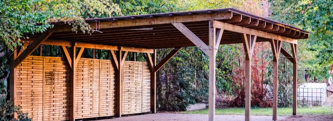
<path fill-rule="evenodd" d="M 273 120 L 277 116 L 277 67 L 280 52 L 293 63 L 293 115 L 296 115 L 297 40 L 308 38 L 308 32 L 255 16 L 237 9 L 87 19 L 100 32 L 72 32 L 71 26 L 57 25 L 48 31 L 23 39 L 23 51 L 15 51 L 11 59 L 10 96 L 16 102 L 17 67 L 40 45 L 61 46 L 70 71 L 69 119 L 75 120 L 76 66 L 83 49 L 110 50 L 116 71 L 116 115 L 122 115 L 122 68 L 128 52 L 145 53 L 151 74 L 151 112 L 156 112 L 156 71 L 182 47 L 197 46 L 209 57 L 209 121 L 215 115 L 215 56 L 218 45 L 243 43 L 246 57 L 245 120 L 250 120 L 251 56 L 256 42 L 270 42 L 273 51 Z M 282 48 L 290 43 L 292 54 Z M 70 53 L 66 47 L 70 47 Z M 78 54 L 76 54 L 76 48 Z M 156 62 L 156 49 L 174 48 L 161 62 Z M 152 55 L 151 55 L 152 54 Z M 116 56 L 117 55 L 117 56 Z M 43 98 L 44 99 L 44 98 Z M 44 103 L 44 102 L 43 102 Z M 44 116 L 44 112 L 43 112 Z M 43 118 L 44 120 L 44 118 Z"/>

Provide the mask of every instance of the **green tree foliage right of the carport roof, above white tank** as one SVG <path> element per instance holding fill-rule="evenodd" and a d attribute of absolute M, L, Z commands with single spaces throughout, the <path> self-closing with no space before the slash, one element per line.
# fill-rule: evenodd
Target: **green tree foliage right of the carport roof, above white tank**
<path fill-rule="evenodd" d="M 272 1 L 272 19 L 312 32 L 309 39 L 300 40 L 298 46 L 299 68 L 309 74 L 311 80 L 323 81 L 333 69 L 330 68 L 333 64 L 332 6 L 331 0 Z"/>

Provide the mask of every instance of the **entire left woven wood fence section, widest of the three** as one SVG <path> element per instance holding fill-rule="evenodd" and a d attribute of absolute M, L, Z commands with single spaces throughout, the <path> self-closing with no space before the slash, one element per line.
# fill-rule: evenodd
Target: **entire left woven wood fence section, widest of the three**
<path fill-rule="evenodd" d="M 23 112 L 32 120 L 69 119 L 69 70 L 62 58 L 29 56 L 17 70 L 15 101 Z"/>

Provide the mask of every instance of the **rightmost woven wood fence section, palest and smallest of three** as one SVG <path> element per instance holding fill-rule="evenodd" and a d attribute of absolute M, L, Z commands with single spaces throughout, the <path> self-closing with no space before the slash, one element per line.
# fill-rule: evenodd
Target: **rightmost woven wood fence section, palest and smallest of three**
<path fill-rule="evenodd" d="M 123 66 L 123 114 L 150 111 L 150 70 L 147 62 L 125 61 Z"/>

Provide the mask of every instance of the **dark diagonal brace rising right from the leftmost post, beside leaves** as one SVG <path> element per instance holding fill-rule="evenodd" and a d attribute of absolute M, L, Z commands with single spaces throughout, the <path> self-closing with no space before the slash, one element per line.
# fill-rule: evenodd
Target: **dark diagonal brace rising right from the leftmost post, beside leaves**
<path fill-rule="evenodd" d="M 39 45 L 41 45 L 41 43 L 45 41 L 53 32 L 54 29 L 50 29 L 42 33 L 38 38 L 36 38 L 36 40 L 33 43 L 31 43 L 22 52 L 22 54 L 15 59 L 14 67 L 16 68 L 22 61 L 24 61 L 24 59 L 26 59 L 32 52 L 34 52 L 39 47 Z"/>

